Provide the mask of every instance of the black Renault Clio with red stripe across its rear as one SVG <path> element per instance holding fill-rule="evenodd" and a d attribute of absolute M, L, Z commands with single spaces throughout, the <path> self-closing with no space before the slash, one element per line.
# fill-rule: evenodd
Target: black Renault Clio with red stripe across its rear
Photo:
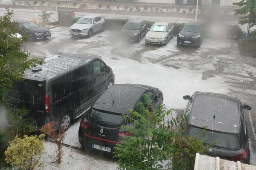
<path fill-rule="evenodd" d="M 112 153 L 123 135 L 130 135 L 121 129 L 127 109 L 138 111 L 137 102 L 143 102 L 146 94 L 156 111 L 163 102 L 163 93 L 158 88 L 146 85 L 113 85 L 95 102 L 92 110 L 80 122 L 79 142 L 82 147 Z"/>

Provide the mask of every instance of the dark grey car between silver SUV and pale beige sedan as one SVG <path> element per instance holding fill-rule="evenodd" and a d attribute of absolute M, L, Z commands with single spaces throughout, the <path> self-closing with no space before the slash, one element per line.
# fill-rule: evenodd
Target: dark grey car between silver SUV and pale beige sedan
<path fill-rule="evenodd" d="M 123 34 L 128 40 L 136 42 L 140 42 L 146 32 L 147 28 L 143 20 L 129 20 L 121 30 L 121 34 Z"/>

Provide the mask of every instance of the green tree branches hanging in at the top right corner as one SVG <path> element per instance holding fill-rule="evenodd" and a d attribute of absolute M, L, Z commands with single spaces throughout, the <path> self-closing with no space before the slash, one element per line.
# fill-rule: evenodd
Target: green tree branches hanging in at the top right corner
<path fill-rule="evenodd" d="M 240 9 L 235 10 L 235 14 L 242 15 L 239 24 L 250 24 L 250 28 L 256 26 L 256 0 L 241 0 L 233 5 L 241 6 Z"/>

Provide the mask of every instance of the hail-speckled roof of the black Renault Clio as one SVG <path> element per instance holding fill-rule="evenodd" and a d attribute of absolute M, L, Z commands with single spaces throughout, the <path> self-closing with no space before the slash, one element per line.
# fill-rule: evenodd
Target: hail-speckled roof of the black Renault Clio
<path fill-rule="evenodd" d="M 97 99 L 93 108 L 127 114 L 127 109 L 134 109 L 141 95 L 149 89 L 154 90 L 156 88 L 146 85 L 115 84 Z"/>

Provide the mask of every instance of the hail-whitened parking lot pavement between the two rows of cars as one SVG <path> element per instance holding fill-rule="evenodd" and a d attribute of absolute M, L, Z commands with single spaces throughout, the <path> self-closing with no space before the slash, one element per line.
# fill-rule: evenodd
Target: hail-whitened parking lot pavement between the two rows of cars
<path fill-rule="evenodd" d="M 200 48 L 177 48 L 177 37 L 168 45 L 127 43 L 116 32 L 105 31 L 91 38 L 72 38 L 68 27 L 51 30 L 46 41 L 23 44 L 31 57 L 51 57 L 58 53 L 100 57 L 116 75 L 117 83 L 145 84 L 163 91 L 167 108 L 181 113 L 186 102 L 182 96 L 195 91 L 209 91 L 237 96 L 252 107 L 245 112 L 250 137 L 251 164 L 256 165 L 256 59 L 239 54 L 235 41 L 204 39 Z M 67 131 L 66 143 L 80 147 L 77 139 L 79 122 Z"/>

